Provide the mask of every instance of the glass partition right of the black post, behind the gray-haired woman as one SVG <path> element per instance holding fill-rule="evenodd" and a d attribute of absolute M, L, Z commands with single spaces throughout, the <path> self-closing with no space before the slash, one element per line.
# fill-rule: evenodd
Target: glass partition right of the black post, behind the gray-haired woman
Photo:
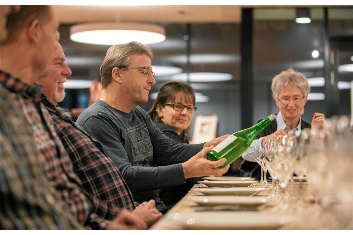
<path fill-rule="evenodd" d="M 349 82 L 353 80 L 353 71 L 342 71 L 338 67 L 351 64 L 351 70 L 353 68 L 353 62 L 349 61 L 353 56 L 353 8 L 328 8 L 327 29 L 323 23 L 324 8 L 309 10 L 309 24 L 296 23 L 297 8 L 253 10 L 254 123 L 260 117 L 278 112 L 272 98 L 271 80 L 287 68 L 298 70 L 309 80 L 311 91 L 303 114 L 309 123 L 314 112 L 322 112 L 326 117 L 350 115 Z M 328 42 L 326 45 L 325 41 Z M 325 64 L 324 51 L 327 48 L 330 59 Z M 331 86 L 330 89 L 327 86 Z M 333 105 L 328 106 L 328 102 Z"/>

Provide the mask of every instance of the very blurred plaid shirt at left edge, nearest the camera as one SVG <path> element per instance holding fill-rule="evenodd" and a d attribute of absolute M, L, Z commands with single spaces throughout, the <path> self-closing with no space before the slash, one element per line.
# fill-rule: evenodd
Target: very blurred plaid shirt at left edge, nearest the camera
<path fill-rule="evenodd" d="M 1 74 L 2 76 L 2 74 Z M 1 85 L 1 229 L 82 229 L 47 179 L 32 130 Z"/>

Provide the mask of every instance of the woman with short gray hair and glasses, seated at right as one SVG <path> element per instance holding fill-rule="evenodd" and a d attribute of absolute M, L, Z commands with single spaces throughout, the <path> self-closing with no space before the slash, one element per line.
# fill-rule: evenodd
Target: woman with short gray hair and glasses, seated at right
<path fill-rule="evenodd" d="M 257 135 L 257 140 L 254 140 L 249 149 L 242 155 L 244 160 L 240 165 L 240 170 L 244 172 L 244 176 L 256 179 L 261 178 L 261 169 L 253 156 L 256 142 L 260 141 L 262 147 L 264 147 L 266 140 L 275 139 L 278 135 L 286 135 L 287 132 L 284 130 L 286 123 L 289 123 L 290 130 L 301 130 L 325 122 L 323 113 L 315 112 L 311 124 L 300 117 L 310 92 L 310 85 L 304 74 L 295 72 L 291 68 L 282 71 L 272 79 L 271 89 L 272 97 L 279 108 L 277 117 Z M 257 123 L 263 119 L 259 119 Z"/>

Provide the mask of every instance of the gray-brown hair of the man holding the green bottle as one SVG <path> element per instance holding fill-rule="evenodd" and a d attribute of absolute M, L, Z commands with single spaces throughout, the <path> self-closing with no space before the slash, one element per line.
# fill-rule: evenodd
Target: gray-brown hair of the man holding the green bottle
<path fill-rule="evenodd" d="M 102 88 L 105 88 L 110 84 L 113 68 L 128 66 L 131 56 L 136 54 L 147 55 L 151 61 L 153 59 L 152 49 L 148 45 L 139 42 L 129 42 L 111 46 L 99 68 Z"/>

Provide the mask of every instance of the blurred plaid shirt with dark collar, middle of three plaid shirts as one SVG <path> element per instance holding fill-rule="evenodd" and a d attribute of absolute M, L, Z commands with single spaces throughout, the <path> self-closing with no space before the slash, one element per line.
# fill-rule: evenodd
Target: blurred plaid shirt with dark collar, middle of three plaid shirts
<path fill-rule="evenodd" d="M 82 225 L 94 229 L 105 229 L 107 205 L 98 198 L 89 197 L 83 192 L 80 179 L 72 170 L 72 163 L 59 137 L 56 135 L 52 119 L 41 103 L 41 88 L 20 81 L 10 74 L 1 72 L 1 84 L 10 91 L 14 103 L 21 107 L 25 119 L 32 128 L 34 144 L 37 146 L 40 161 L 44 161 L 44 171 L 54 185 L 62 204 L 68 206 L 70 214 Z M 110 214 L 108 215 L 110 216 Z"/>

